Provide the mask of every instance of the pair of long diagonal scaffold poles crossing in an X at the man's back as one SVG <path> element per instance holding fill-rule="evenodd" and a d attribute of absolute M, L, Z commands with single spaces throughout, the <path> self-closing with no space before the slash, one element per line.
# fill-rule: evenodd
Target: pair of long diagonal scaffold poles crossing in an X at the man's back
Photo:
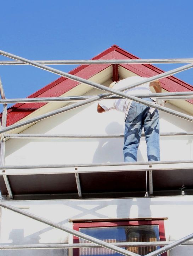
<path fill-rule="evenodd" d="M 142 82 L 138 82 L 138 83 L 135 83 L 135 84 L 132 84 L 130 86 L 127 86 L 125 88 L 123 88 L 121 91 L 117 91 L 117 90 L 114 90 L 114 89 L 110 89 L 109 87 L 106 87 L 104 85 L 100 85 L 100 84 L 97 84 L 95 82 L 92 82 L 92 81 L 88 81 L 86 79 L 83 79 L 83 78 L 80 78 L 78 76 L 75 76 L 75 75 L 72 75 L 72 74 L 68 74 L 66 72 L 63 72 L 63 71 L 60 71 L 60 70 L 57 70 L 57 69 L 53 69 L 49 66 L 45 66 L 45 65 L 42 65 L 42 64 L 39 64 L 39 63 L 36 63 L 36 62 L 33 62 L 31 60 L 28 60 L 28 59 L 24 59 L 24 58 L 21 58 L 21 57 L 18 57 L 16 55 L 13 55 L 11 53 L 7 53 L 7 52 L 4 52 L 2 50 L 0 50 L 0 54 L 1 55 L 4 55 L 6 57 L 9 57 L 9 58 L 12 58 L 12 59 L 16 59 L 16 60 L 20 60 L 24 63 L 28 63 L 32 66 L 35 66 L 37 68 L 40 68 L 40 69 L 44 69 L 44 70 L 47 70 L 51 73 L 54 73 L 54 74 L 58 74 L 58 75 L 61 75 L 61 76 L 64 76 L 64 77 L 67 77 L 69 79 L 72 79 L 72 80 L 75 80 L 75 81 L 79 81 L 81 83 L 84 83 L 84 84 L 87 84 L 87 85 L 90 85 L 92 87 L 95 87 L 97 89 L 101 89 L 101 90 L 104 90 L 104 91 L 107 91 L 109 93 L 106 93 L 106 94 L 102 94 L 102 95 L 97 95 L 97 96 L 92 96 L 91 98 L 87 99 L 87 100 L 84 100 L 84 101 L 81 101 L 81 102 L 78 102 L 78 103 L 74 103 L 70 106 L 66 106 L 66 107 L 63 107 L 63 108 L 60 108 L 58 110 L 55 110 L 55 111 L 52 111 L 52 112 L 49 112 L 49 113 L 46 113 L 46 114 L 43 114 L 39 117 L 35 117 L 35 118 L 32 118 L 32 119 L 29 119 L 27 121 L 23 121 L 23 122 L 19 122 L 18 124 L 12 124 L 11 126 L 8 126 L 6 128 L 2 128 L 0 129 L 0 133 L 4 133 L 4 132 L 7 132 L 8 130 L 13 130 L 15 128 L 19 128 L 19 127 L 22 127 L 22 126 L 25 126 L 27 124 L 31 124 L 31 123 L 34 123 L 34 122 L 38 122 L 42 119 L 45 119 L 45 118 L 48 118 L 48 117 L 51 117 L 53 115 L 56 115 L 56 114 L 59 114 L 59 113 L 62 113 L 64 111 L 68 111 L 68 110 L 71 110 L 73 108 L 76 108 L 76 107 L 79 107 L 79 106 L 83 106 L 85 104 L 88 104 L 88 103 L 91 103 L 91 102 L 94 102 L 94 101 L 97 101 L 97 100 L 100 100 L 101 98 L 104 98 L 104 97 L 107 97 L 107 96 L 110 96 L 111 94 L 114 94 L 114 95 L 118 95 L 120 97 L 123 97 L 123 98 L 127 98 L 129 100 L 133 100 L 133 101 L 136 101 L 136 102 L 139 102 L 139 103 L 142 103 L 142 104 L 145 104 L 149 107 L 153 107 L 153 108 L 157 108 L 158 110 L 162 110 L 166 113 L 170 113 L 170 114 L 173 114 L 175 116 L 178 116 L 178 117 L 181 117 L 181 118 L 184 118 L 186 120 L 189 120 L 189 121 L 193 121 L 193 117 L 192 116 L 189 116 L 187 114 L 183 114 L 181 112 L 178 112 L 178 111 L 174 111 L 174 110 L 170 110 L 169 108 L 166 108 L 166 107 L 163 107 L 163 106 L 160 106 L 160 105 L 157 105 L 155 103 L 152 103 L 152 102 L 148 102 L 148 101 L 145 101 L 145 100 L 142 100 L 140 98 L 137 98 L 137 97 L 134 97 L 134 96 L 131 96 L 131 95 L 127 95 L 121 91 L 124 91 L 126 89 L 131 89 L 131 88 L 134 88 L 138 85 L 142 85 L 142 84 L 145 84 L 147 82 L 151 82 L 151 81 L 155 81 L 157 79 L 161 79 L 161 78 L 165 78 L 167 76 L 170 76 L 172 74 L 176 74 L 178 72 L 181 72 L 183 70 L 187 70 L 187 69 L 190 69 L 193 67 L 193 64 L 188 64 L 188 65 L 185 65 L 185 66 L 182 66 L 180 68 L 176 68 L 176 69 L 173 69 L 173 70 L 170 70 L 170 71 L 167 71 L 165 73 L 161 73 L 159 75 L 155 75 L 153 76 L 152 78 L 147 78 L 147 79 L 144 79 Z"/>

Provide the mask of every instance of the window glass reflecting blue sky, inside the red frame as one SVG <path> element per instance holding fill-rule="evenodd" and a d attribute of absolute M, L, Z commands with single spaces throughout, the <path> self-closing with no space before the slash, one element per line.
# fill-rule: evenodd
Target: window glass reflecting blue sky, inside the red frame
<path fill-rule="evenodd" d="M 80 232 L 93 236 L 94 238 L 105 242 L 144 242 L 144 241 L 160 241 L 158 225 L 139 225 L 139 226 L 114 226 L 103 228 L 80 228 Z M 89 243 L 84 239 L 79 239 L 80 243 Z M 134 247 L 128 246 L 124 249 L 135 252 L 140 255 L 146 255 L 159 247 L 143 246 Z M 121 254 L 104 247 L 98 248 L 80 248 L 80 256 L 87 255 L 112 255 L 120 256 Z"/>

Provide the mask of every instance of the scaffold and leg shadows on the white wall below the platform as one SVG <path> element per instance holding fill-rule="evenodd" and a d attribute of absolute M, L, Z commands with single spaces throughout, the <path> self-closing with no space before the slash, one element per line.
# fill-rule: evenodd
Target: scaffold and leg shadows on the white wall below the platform
<path fill-rule="evenodd" d="M 146 203 L 141 204 L 141 199 L 133 199 L 133 200 L 125 200 L 125 199 L 112 199 L 110 201 L 104 201 L 101 205 L 96 205 L 97 203 L 95 201 L 89 202 L 89 204 L 95 204 L 96 206 L 92 209 L 85 209 L 85 202 L 83 202 L 83 207 L 81 207 L 82 202 L 73 202 L 74 207 L 82 210 L 81 214 L 78 214 L 76 216 L 70 216 L 73 218 L 80 218 L 81 216 L 85 214 L 92 214 L 96 215 L 98 218 L 106 219 L 109 216 L 97 213 L 100 209 L 107 207 L 108 205 L 114 205 L 117 206 L 117 215 L 116 218 L 137 218 L 138 217 L 151 217 L 151 210 L 150 210 L 150 204 L 151 204 L 151 198 L 146 198 Z M 135 207 L 135 209 L 132 209 L 132 212 L 135 214 L 130 215 L 131 207 Z M 144 208 L 143 208 L 144 207 Z M 86 212 L 85 212 L 86 211 Z M 138 214 L 137 214 L 138 213 Z M 145 215 L 144 215 L 145 214 Z M 67 219 L 61 222 L 60 224 L 67 222 Z M 47 229 L 41 230 L 40 233 L 34 233 L 29 236 L 24 236 L 24 229 L 12 229 L 9 235 L 9 239 L 12 240 L 11 244 L 15 245 L 21 245 L 21 244 L 41 244 L 39 243 L 40 240 L 40 234 L 43 234 L 44 232 L 53 229 L 52 227 L 49 227 Z M 25 250 L 3 250 L 1 251 L 2 256 L 68 256 L 68 249 L 25 249 Z"/>

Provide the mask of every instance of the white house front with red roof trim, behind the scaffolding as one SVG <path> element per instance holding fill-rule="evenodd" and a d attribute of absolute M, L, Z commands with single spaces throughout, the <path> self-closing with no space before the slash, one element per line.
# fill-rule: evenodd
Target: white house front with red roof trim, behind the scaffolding
<path fill-rule="evenodd" d="M 112 46 L 93 59 L 138 58 L 118 46 Z M 80 65 L 70 72 L 107 87 L 112 81 L 128 76 L 148 78 L 161 73 L 162 70 L 150 64 Z M 191 85 L 174 76 L 163 78 L 160 82 L 162 92 L 193 91 Z M 102 93 L 102 90 L 87 84 L 62 77 L 29 98 Z M 2 202 L 106 242 L 176 241 L 192 234 L 192 122 L 159 111 L 162 162 L 158 165 L 147 164 L 146 142 L 142 137 L 137 156 L 139 164 L 125 165 L 122 152 L 124 114 L 114 110 L 99 114 L 97 103 L 73 108 L 7 132 L 10 137 L 16 133 L 66 137 L 7 137 L 5 166 L 18 166 L 18 169 L 1 169 Z M 70 104 L 73 103 L 18 103 L 7 111 L 7 126 Z M 193 113 L 193 101 L 190 99 L 168 100 L 165 106 L 190 116 Z M 45 168 L 45 165 L 50 167 Z M 22 166 L 25 168 L 22 169 Z M 30 166 L 39 168 L 32 169 Z M 7 190 L 3 178 L 5 174 L 13 198 Z M 150 186 L 153 187 L 151 191 Z M 86 241 L 1 208 L 0 242 L 44 245 Z M 139 255 L 147 255 L 156 249 L 155 246 L 124 248 Z M 161 255 L 191 256 L 192 252 L 190 241 L 188 245 L 175 247 Z M 98 247 L 12 249 L 2 250 L 1 253 L 6 256 L 115 254 L 112 250 Z"/>

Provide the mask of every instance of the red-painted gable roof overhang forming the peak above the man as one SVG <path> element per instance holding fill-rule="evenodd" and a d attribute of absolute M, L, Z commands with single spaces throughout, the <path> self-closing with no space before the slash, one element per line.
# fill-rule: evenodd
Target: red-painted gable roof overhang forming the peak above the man
<path fill-rule="evenodd" d="M 95 60 L 95 59 L 140 59 L 140 58 L 114 45 L 108 48 L 107 50 L 105 50 L 104 52 L 98 54 L 96 57 L 92 59 Z M 80 65 L 77 68 L 70 71 L 69 73 L 76 76 L 80 76 L 81 78 L 84 78 L 84 79 L 89 79 L 93 75 L 98 74 L 99 72 L 103 71 L 104 69 L 106 69 L 111 65 L 112 64 Z M 118 70 L 117 68 L 118 65 L 113 65 L 113 66 L 114 66 L 113 75 L 116 75 L 116 70 Z M 119 66 L 139 76 L 144 76 L 144 77 L 151 77 L 164 72 L 163 70 L 151 64 L 119 64 Z M 64 93 L 68 92 L 69 90 L 73 89 L 78 84 L 79 82 L 61 77 L 51 82 L 49 85 L 43 87 L 42 89 L 38 90 L 34 94 L 28 96 L 28 98 L 59 97 Z M 168 78 L 161 79 L 161 86 L 163 87 L 164 90 L 169 92 L 193 91 L 193 87 L 191 85 L 187 84 L 186 82 L 183 82 L 180 79 L 175 78 L 174 76 L 169 76 Z M 193 103 L 193 100 L 188 100 L 188 102 Z M 38 110 L 39 108 L 41 108 L 46 104 L 47 103 L 18 103 L 13 105 L 7 111 L 8 113 L 7 126 L 20 121 L 22 118 L 27 117 L 29 114 Z"/>

